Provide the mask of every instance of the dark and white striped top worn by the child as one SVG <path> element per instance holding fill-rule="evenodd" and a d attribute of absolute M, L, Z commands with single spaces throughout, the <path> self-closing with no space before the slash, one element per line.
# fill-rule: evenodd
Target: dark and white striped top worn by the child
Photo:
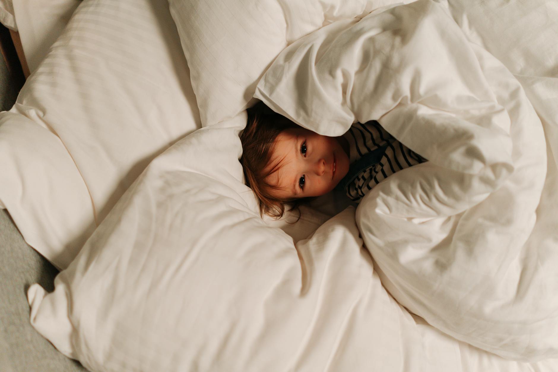
<path fill-rule="evenodd" d="M 426 161 L 425 158 L 396 140 L 374 120 L 353 124 L 343 137 L 349 142 L 350 164 L 354 164 L 372 151 L 383 152 L 383 156 L 379 154 L 381 157 L 365 165 L 364 168 L 360 167 L 356 171 L 353 167 L 349 169 L 350 182 L 345 185 L 345 192 L 354 202 L 359 202 L 368 190 L 396 171 Z M 351 172 L 354 174 L 350 174 Z"/>

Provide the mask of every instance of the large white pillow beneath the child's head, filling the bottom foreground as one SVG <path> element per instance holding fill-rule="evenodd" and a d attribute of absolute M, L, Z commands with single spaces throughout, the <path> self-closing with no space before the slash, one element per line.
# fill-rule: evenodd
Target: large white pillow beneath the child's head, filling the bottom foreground
<path fill-rule="evenodd" d="M 374 273 L 353 208 L 296 246 L 264 224 L 243 196 L 245 121 L 152 161 L 55 291 L 29 289 L 37 331 L 92 371 L 538 368 L 417 324 Z"/>

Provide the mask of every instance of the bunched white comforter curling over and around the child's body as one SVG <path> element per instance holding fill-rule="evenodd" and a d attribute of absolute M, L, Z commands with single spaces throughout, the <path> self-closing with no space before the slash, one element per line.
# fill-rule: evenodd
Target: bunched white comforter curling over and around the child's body
<path fill-rule="evenodd" d="M 384 285 L 459 340 L 513 359 L 558 356 L 558 148 L 521 84 L 446 6 L 421 0 L 324 27 L 280 55 L 257 97 L 326 135 L 379 120 L 429 159 L 357 209 Z"/>

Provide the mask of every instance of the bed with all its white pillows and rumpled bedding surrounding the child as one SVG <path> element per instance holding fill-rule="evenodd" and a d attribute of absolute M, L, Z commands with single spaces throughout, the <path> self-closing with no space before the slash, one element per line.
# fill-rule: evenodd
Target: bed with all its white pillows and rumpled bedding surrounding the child
<path fill-rule="evenodd" d="M 8 259 L 41 270 L 31 246 L 62 270 L 9 294 L 52 365 L 558 369 L 552 2 L 62 3 L 67 26 L 28 23 L 60 33 L 48 51 L 13 4 L 42 52 L 0 114 Z M 331 136 L 381 117 L 431 161 L 359 206 L 328 194 L 262 220 L 238 163 L 254 96 Z"/>

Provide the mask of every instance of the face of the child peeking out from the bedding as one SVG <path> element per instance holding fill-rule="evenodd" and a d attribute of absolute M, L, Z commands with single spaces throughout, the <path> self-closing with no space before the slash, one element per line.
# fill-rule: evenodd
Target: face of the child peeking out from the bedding
<path fill-rule="evenodd" d="M 326 194 L 349 171 L 349 157 L 338 139 L 305 128 L 288 129 L 277 136 L 266 170 L 278 162 L 279 168 L 266 181 L 279 187 L 271 193 L 280 198 Z"/>

